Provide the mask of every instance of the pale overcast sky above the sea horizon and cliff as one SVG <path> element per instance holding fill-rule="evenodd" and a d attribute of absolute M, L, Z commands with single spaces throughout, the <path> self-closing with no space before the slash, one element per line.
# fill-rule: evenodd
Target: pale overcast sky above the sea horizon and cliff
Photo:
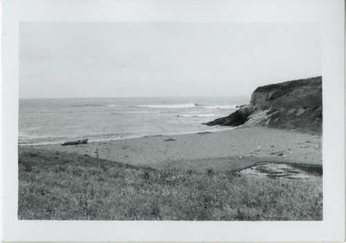
<path fill-rule="evenodd" d="M 316 24 L 21 22 L 19 98 L 251 96 L 321 75 Z"/>

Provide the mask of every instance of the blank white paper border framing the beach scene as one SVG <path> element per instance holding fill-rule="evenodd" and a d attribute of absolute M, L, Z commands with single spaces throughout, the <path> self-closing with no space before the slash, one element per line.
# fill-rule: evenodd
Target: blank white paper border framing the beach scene
<path fill-rule="evenodd" d="M 3 241 L 342 241 L 345 227 L 345 13 L 342 0 L 3 0 Z M 315 23 L 323 87 L 321 222 L 25 221 L 17 218 L 19 23 L 173 21 Z"/>

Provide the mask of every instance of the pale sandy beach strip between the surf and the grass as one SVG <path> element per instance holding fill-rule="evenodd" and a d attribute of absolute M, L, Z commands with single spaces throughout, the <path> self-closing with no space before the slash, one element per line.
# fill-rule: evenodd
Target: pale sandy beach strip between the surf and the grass
<path fill-rule="evenodd" d="M 322 165 L 319 135 L 248 127 L 207 134 L 150 136 L 84 145 L 35 145 L 40 149 L 76 152 L 100 159 L 154 168 L 235 170 L 261 161 Z"/>

